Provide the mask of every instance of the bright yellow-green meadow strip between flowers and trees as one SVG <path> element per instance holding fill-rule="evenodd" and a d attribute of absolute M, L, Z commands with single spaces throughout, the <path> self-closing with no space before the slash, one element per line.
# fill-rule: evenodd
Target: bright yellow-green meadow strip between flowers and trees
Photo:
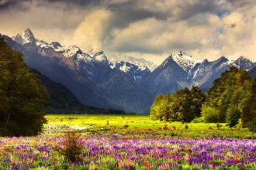
<path fill-rule="evenodd" d="M 227 124 L 185 123 L 152 121 L 149 115 L 47 115 L 44 135 L 64 133 L 71 128 L 81 128 L 94 134 L 161 134 L 163 136 L 203 138 L 248 138 L 256 135 L 241 123 L 234 128 Z"/>

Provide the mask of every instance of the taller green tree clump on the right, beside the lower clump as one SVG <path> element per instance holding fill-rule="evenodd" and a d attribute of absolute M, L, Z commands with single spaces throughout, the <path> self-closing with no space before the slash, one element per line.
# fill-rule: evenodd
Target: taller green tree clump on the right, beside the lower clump
<path fill-rule="evenodd" d="M 237 124 L 240 110 L 250 97 L 252 78 L 245 70 L 230 67 L 214 80 L 207 93 L 202 115 L 206 122 L 227 122 L 230 127 Z"/>

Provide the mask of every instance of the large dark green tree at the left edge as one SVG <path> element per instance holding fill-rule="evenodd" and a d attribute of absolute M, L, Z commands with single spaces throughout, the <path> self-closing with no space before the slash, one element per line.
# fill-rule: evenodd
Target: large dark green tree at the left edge
<path fill-rule="evenodd" d="M 50 102 L 47 90 L 40 85 L 22 59 L 0 39 L 0 135 L 36 135 L 43 129 L 43 107 Z"/>

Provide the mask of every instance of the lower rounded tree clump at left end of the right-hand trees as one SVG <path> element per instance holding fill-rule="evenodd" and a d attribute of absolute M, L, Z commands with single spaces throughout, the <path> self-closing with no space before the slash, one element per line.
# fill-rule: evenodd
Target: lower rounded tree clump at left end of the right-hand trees
<path fill-rule="evenodd" d="M 150 110 L 152 120 L 191 122 L 201 116 L 206 95 L 198 87 L 185 88 L 174 94 L 158 95 Z"/>

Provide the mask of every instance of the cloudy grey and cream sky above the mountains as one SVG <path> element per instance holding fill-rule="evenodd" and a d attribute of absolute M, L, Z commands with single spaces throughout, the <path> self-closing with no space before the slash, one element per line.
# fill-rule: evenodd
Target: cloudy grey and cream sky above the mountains
<path fill-rule="evenodd" d="M 178 51 L 256 61 L 256 0 L 0 0 L 0 21 L 8 36 L 29 28 L 47 42 L 157 64 Z"/>

